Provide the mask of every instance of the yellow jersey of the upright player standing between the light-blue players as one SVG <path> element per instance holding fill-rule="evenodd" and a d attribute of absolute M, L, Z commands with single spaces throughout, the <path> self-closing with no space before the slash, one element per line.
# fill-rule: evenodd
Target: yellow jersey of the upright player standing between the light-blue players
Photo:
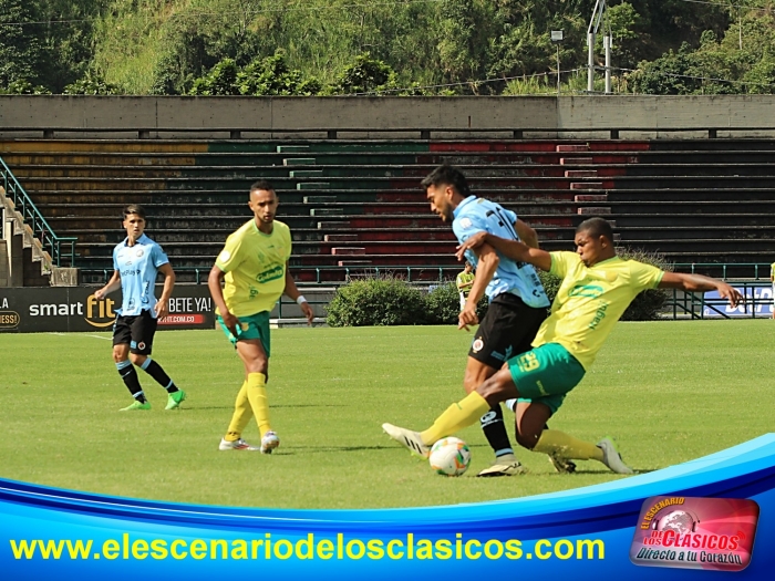
<path fill-rule="evenodd" d="M 234 315 L 273 309 L 286 289 L 290 252 L 290 229 L 277 220 L 271 234 L 264 234 L 250 220 L 226 239 L 215 264 L 226 272 L 224 300 Z"/>

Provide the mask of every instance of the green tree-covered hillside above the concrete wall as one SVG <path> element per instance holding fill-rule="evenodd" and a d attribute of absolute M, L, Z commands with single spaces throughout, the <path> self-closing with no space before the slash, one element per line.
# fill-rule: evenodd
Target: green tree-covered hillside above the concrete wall
<path fill-rule="evenodd" d="M 617 91 L 773 92 L 773 0 L 608 3 Z M 593 6 L 595 0 L 0 0 L 0 91 L 541 93 L 556 86 L 551 30 L 565 32 L 566 91 L 582 90 Z"/>

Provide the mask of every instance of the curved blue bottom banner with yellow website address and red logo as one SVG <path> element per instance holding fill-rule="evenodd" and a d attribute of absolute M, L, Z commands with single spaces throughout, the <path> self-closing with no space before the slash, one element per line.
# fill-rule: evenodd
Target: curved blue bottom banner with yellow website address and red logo
<path fill-rule="evenodd" d="M 604 485 L 430 508 L 194 506 L 0 480 L 0 563 L 25 580 L 766 579 L 774 513 L 773 434 Z"/>

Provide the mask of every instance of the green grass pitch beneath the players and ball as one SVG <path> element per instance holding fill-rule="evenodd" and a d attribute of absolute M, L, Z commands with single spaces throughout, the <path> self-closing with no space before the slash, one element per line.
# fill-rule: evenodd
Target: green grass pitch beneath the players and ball
<path fill-rule="evenodd" d="M 0 334 L 0 477 L 123 497 L 283 508 L 448 505 L 537 495 L 621 476 L 601 464 L 557 475 L 519 450 L 529 474 L 474 475 L 492 453 L 478 426 L 461 478 L 435 475 L 390 440 L 383 422 L 424 428 L 463 395 L 471 335 L 454 326 L 272 332 L 269 398 L 282 444 L 271 456 L 221 453 L 241 364 L 218 331 L 165 331 L 156 359 L 189 394 L 140 372 L 154 408 L 131 403 L 107 333 Z M 551 426 L 610 435 L 649 471 L 775 428 L 775 321 L 619 323 Z M 246 439 L 258 443 L 251 423 Z"/>

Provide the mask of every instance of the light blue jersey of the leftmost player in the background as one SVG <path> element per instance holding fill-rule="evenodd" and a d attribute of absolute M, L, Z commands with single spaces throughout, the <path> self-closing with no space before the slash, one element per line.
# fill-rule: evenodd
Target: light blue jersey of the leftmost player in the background
<path fill-rule="evenodd" d="M 156 273 L 158 267 L 169 262 L 162 247 L 143 235 L 134 246 L 126 246 L 126 238 L 113 249 L 113 268 L 121 274 L 121 293 L 123 301 L 116 312 L 122 317 L 135 317 L 143 311 L 151 311 L 155 319 Z"/>

